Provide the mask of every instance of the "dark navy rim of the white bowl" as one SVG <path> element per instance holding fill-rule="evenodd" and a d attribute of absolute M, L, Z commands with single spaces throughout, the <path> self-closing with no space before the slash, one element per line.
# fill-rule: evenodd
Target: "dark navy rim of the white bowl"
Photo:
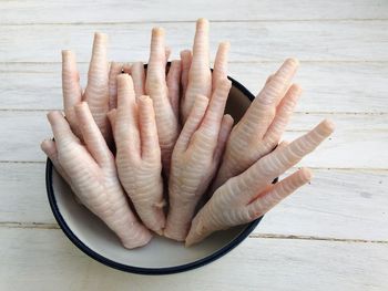
<path fill-rule="evenodd" d="M 228 76 L 228 79 L 232 81 L 232 86 L 238 89 L 246 97 L 249 98 L 249 101 L 253 101 L 255 96 L 241 83 L 238 83 L 236 80 L 233 77 Z M 55 194 L 54 189 L 52 186 L 52 169 L 53 165 L 51 160 L 48 158 L 47 164 L 45 164 L 45 188 L 49 197 L 49 202 L 51 210 L 55 217 L 57 222 L 59 224 L 60 228 L 64 232 L 64 235 L 80 249 L 82 250 L 85 254 L 91 257 L 92 259 L 118 270 L 125 271 L 125 272 L 131 272 L 131 273 L 139 273 L 139 274 L 170 274 L 170 273 L 178 273 L 178 272 L 184 272 L 188 270 L 193 270 L 196 268 L 200 268 L 202 266 L 205 266 L 207 263 L 211 263 L 218 258 L 225 256 L 231 250 L 236 248 L 244 239 L 246 239 L 249 233 L 256 228 L 256 226 L 261 222 L 262 217 L 257 218 L 256 220 L 252 221 L 251 224 L 247 225 L 247 227 L 236 237 L 234 238 L 231 242 L 228 242 L 226 246 L 221 248 L 219 250 L 215 251 L 214 253 L 181 266 L 175 266 L 175 267 L 166 267 L 166 268 L 141 268 L 141 267 L 134 267 L 134 266 L 127 266 L 123 263 L 119 263 L 115 261 L 112 261 L 98 252 L 93 251 L 90 249 L 86 245 L 84 245 L 75 235 L 74 232 L 70 229 L 65 220 L 63 219 L 58 205 L 57 205 L 57 199 L 55 199 Z"/>

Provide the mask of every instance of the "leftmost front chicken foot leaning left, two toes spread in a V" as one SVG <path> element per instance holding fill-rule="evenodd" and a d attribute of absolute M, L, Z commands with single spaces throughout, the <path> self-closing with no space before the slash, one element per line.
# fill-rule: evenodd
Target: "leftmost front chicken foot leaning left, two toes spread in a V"
<path fill-rule="evenodd" d="M 48 114 L 55 142 L 42 143 L 52 149 L 64 178 L 81 202 L 100 217 L 121 239 L 125 248 L 146 245 L 152 235 L 132 212 L 121 187 L 110 152 L 85 102 L 74 107 L 84 144 L 71 132 L 61 113 Z M 54 165 L 55 162 L 53 160 Z"/>

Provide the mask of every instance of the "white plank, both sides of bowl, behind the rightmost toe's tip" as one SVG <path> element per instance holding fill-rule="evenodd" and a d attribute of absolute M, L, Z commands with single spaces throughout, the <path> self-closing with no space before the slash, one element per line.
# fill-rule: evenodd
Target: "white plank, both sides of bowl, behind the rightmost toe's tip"
<path fill-rule="evenodd" d="M 325 168 L 387 168 L 387 114 L 296 114 L 285 138 L 296 138 L 325 117 L 337 123 L 335 134 L 300 165 Z M 45 112 L 0 112 L 0 160 L 44 160 L 39 144 L 51 136 Z"/>

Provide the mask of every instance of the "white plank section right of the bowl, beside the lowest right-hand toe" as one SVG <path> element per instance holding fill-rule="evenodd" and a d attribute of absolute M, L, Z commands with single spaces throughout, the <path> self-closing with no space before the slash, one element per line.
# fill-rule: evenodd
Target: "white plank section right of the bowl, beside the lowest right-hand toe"
<path fill-rule="evenodd" d="M 315 169 L 255 233 L 388 241 L 387 172 Z"/>

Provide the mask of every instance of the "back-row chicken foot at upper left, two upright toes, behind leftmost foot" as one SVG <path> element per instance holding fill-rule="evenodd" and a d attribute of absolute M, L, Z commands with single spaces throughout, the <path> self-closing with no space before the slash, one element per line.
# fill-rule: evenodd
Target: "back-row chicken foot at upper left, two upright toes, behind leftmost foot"
<path fill-rule="evenodd" d="M 106 117 L 110 110 L 106 45 L 108 35 L 104 33 L 95 33 L 88 73 L 88 85 L 84 92 L 82 92 L 80 85 L 80 74 L 76 70 L 75 54 L 72 51 L 62 51 L 62 90 L 64 113 L 73 133 L 78 137 L 82 137 L 74 106 L 81 101 L 85 101 L 103 137 L 108 144 L 111 144 L 112 133 Z"/>

